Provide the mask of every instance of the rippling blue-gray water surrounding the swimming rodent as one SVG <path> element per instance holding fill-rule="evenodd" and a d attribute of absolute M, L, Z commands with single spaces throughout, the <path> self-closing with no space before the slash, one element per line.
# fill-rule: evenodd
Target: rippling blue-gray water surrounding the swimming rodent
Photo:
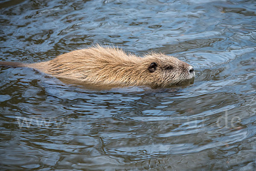
<path fill-rule="evenodd" d="M 96 43 L 174 55 L 195 82 L 92 90 L 0 67 L 0 170 L 256 170 L 254 0 L 0 1 L 0 61 Z"/>

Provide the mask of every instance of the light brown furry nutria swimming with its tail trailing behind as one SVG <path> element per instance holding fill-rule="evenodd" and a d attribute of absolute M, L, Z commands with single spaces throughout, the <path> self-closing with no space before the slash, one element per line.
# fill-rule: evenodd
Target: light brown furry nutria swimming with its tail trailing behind
<path fill-rule="evenodd" d="M 96 85 L 161 87 L 195 76 L 191 65 L 172 56 L 152 52 L 138 57 L 114 47 L 99 45 L 71 51 L 46 62 L 24 64 L 1 61 L 0 65 L 35 68 L 57 78 Z"/>

